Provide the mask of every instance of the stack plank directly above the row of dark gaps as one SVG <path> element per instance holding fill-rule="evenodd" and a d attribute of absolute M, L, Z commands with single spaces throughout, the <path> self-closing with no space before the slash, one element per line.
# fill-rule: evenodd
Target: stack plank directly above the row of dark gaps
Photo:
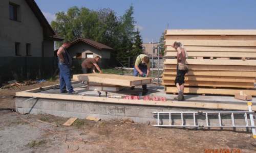
<path fill-rule="evenodd" d="M 228 57 L 228 58 L 256 58 L 255 53 L 233 52 L 187 52 L 189 57 Z M 177 56 L 177 52 L 166 52 L 165 56 Z"/>

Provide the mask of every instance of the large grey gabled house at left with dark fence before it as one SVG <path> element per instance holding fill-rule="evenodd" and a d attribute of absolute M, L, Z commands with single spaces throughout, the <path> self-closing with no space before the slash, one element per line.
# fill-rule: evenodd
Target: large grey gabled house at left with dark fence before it
<path fill-rule="evenodd" d="M 28 73 L 54 67 L 54 41 L 63 38 L 53 31 L 34 0 L 2 0 L 0 14 L 0 81 L 11 79 L 14 69 Z"/>

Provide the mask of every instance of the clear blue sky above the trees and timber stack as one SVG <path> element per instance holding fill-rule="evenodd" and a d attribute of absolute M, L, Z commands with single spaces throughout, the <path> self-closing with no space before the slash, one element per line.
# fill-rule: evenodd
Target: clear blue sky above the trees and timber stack
<path fill-rule="evenodd" d="M 70 7 L 110 8 L 122 16 L 131 5 L 143 43 L 158 42 L 166 29 L 256 29 L 255 0 L 35 0 L 51 23 Z"/>

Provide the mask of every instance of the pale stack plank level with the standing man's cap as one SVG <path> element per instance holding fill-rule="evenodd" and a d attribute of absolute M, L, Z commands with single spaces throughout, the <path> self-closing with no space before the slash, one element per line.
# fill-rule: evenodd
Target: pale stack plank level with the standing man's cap
<path fill-rule="evenodd" d="M 165 45 L 172 45 L 177 39 L 165 40 Z M 189 46 L 256 46 L 256 40 L 180 40 Z"/>

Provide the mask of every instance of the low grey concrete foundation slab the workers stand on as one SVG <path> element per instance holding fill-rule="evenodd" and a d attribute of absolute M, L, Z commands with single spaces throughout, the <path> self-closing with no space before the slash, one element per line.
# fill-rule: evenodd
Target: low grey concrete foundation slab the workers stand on
<path fill-rule="evenodd" d="M 108 98 L 102 98 L 102 101 L 93 100 L 90 101 L 90 97 L 96 98 L 98 97 L 97 91 L 89 91 L 86 90 L 86 85 L 80 83 L 74 83 L 73 87 L 76 91 L 78 91 L 78 95 L 68 95 L 68 93 L 60 94 L 59 90 L 50 88 L 48 90 L 42 90 L 39 92 L 31 93 L 31 97 L 28 96 L 16 96 L 16 111 L 19 113 L 29 113 L 29 114 L 51 114 L 54 116 L 60 117 L 77 117 L 77 118 L 86 118 L 88 116 L 93 116 L 101 119 L 110 119 L 110 118 L 131 118 L 135 122 L 145 123 L 147 121 L 158 122 L 157 114 L 152 114 L 152 112 L 198 112 L 198 111 L 237 111 L 237 110 L 224 110 L 224 109 L 210 109 L 210 108 L 191 108 L 191 107 L 174 107 L 170 106 L 172 104 L 172 100 L 177 95 L 166 94 L 163 91 L 162 86 L 148 86 L 148 92 L 142 92 L 141 87 L 136 87 L 135 90 L 131 90 L 130 87 L 126 87 L 125 89 L 119 92 L 109 92 L 108 95 L 139 95 L 142 97 L 140 100 L 131 100 L 133 103 L 122 103 L 122 99 L 118 101 L 117 99 L 113 99 L 113 102 L 106 101 Z M 102 95 L 104 95 L 104 91 L 101 91 Z M 28 91 L 26 93 L 29 93 Z M 46 95 L 49 94 L 49 98 Z M 16 94 L 19 95 L 19 94 Z M 35 96 L 37 95 L 37 96 Z M 42 96 L 43 95 L 43 96 Z M 53 96 L 54 95 L 54 96 Z M 55 96 L 59 95 L 56 99 Z M 87 96 L 83 96 L 87 95 Z M 40 97 L 41 96 L 41 97 Z M 161 96 L 166 97 L 167 101 L 162 101 L 161 103 L 145 103 L 143 105 L 143 96 Z M 63 97 L 63 99 L 61 99 Z M 66 99 L 65 99 L 66 97 Z M 70 99 L 67 99 L 70 98 Z M 71 100 L 72 97 L 75 97 L 76 100 Z M 78 97 L 78 98 L 77 98 Z M 83 99 L 83 100 L 77 100 Z M 185 95 L 186 102 L 191 101 L 200 101 L 200 103 L 205 103 L 206 106 L 209 104 L 230 104 L 230 105 L 245 105 L 247 107 L 248 101 L 242 101 L 238 99 L 234 99 L 232 96 L 202 96 L 202 95 Z M 229 99 L 229 100 L 227 100 Z M 115 103 L 117 101 L 118 103 Z M 126 100 L 127 101 L 127 100 Z M 253 105 L 253 100 L 250 101 Z M 139 103 L 140 102 L 140 103 Z M 151 101 L 152 102 L 152 101 Z M 138 104 L 137 104 L 138 103 Z M 180 101 L 182 103 L 182 101 Z M 166 105 L 164 105 L 166 104 Z M 187 103 L 188 104 L 188 103 Z M 248 111 L 248 110 L 244 110 Z M 255 114 L 253 113 L 253 116 Z M 221 124 L 223 125 L 232 125 L 231 116 L 230 115 L 222 115 L 221 116 Z M 255 118 L 255 116 L 254 116 Z M 161 124 L 169 124 L 169 116 L 161 115 L 159 117 Z M 245 125 L 244 114 L 234 115 L 236 125 Z M 209 125 L 219 125 L 218 115 L 211 115 L 208 118 Z M 248 120 L 249 116 L 248 116 Z M 255 122 L 255 119 L 254 119 Z M 154 124 L 154 123 L 153 123 Z M 181 116 L 173 115 L 172 116 L 172 124 L 179 125 L 181 124 Z M 194 125 L 193 115 L 184 115 L 183 116 L 183 124 L 184 125 Z M 206 119 L 204 115 L 196 115 L 196 124 L 197 125 L 206 125 Z"/>

